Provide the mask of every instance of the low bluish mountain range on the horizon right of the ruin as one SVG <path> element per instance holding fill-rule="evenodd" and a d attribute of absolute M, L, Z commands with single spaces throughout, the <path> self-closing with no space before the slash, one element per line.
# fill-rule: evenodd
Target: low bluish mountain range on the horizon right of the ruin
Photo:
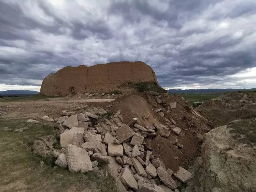
<path fill-rule="evenodd" d="M 195 93 L 195 92 L 232 92 L 232 91 L 252 91 L 253 89 L 168 89 L 168 93 Z"/>

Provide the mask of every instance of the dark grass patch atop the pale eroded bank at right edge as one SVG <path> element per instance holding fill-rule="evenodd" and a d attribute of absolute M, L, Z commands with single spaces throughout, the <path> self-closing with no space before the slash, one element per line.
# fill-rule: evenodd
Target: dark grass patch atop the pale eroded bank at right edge
<path fill-rule="evenodd" d="M 234 133 L 234 137 L 247 144 L 256 144 L 256 120 L 241 119 L 228 124 L 227 128 L 232 128 L 230 133 Z"/>

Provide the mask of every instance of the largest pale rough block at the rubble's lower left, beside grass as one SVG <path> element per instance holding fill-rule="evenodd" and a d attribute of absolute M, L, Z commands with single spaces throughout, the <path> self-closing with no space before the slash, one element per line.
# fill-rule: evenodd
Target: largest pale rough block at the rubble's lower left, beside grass
<path fill-rule="evenodd" d="M 68 144 L 66 157 L 71 172 L 85 173 L 93 170 L 88 152 L 80 147 Z"/>

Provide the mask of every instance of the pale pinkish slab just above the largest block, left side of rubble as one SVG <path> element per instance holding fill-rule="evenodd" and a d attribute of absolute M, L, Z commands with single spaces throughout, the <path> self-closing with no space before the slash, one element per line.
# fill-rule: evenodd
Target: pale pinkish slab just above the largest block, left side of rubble
<path fill-rule="evenodd" d="M 60 134 L 60 146 L 66 147 L 67 144 L 73 143 L 73 135 L 74 133 L 84 133 L 84 128 L 81 127 L 73 127 L 70 130 L 67 130 Z"/>

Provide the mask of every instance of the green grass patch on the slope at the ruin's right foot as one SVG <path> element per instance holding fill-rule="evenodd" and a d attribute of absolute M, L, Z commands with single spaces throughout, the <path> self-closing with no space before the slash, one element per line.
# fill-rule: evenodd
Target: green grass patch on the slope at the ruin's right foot
<path fill-rule="evenodd" d="M 138 92 L 143 91 L 155 91 L 157 93 L 166 93 L 167 90 L 161 88 L 156 82 L 126 82 L 123 83 L 120 87 L 129 87 L 137 90 Z"/>

